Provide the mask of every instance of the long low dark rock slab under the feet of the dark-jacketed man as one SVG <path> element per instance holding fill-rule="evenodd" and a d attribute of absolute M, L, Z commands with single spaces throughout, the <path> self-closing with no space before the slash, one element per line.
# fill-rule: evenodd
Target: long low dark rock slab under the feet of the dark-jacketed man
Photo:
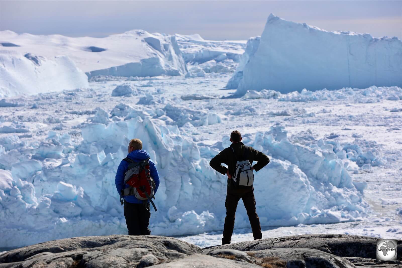
<path fill-rule="evenodd" d="M 339 257 L 376 258 L 377 241 L 374 237 L 344 234 L 309 234 L 292 235 L 277 238 L 265 238 L 248 242 L 220 245 L 205 248 L 204 251 L 215 249 L 234 249 L 240 251 L 266 250 L 271 248 L 311 248 L 321 250 Z M 398 251 L 402 252 L 402 241 L 398 242 Z M 398 260 L 402 254 L 398 254 Z"/>

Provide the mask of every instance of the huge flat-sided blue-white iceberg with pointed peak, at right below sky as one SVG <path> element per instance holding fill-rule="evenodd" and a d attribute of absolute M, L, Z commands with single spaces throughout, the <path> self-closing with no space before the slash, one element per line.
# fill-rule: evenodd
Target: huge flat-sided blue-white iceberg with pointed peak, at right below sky
<path fill-rule="evenodd" d="M 402 43 L 397 37 L 328 32 L 270 14 L 258 49 L 245 53 L 250 55 L 236 95 L 263 89 L 288 93 L 402 86 Z"/>

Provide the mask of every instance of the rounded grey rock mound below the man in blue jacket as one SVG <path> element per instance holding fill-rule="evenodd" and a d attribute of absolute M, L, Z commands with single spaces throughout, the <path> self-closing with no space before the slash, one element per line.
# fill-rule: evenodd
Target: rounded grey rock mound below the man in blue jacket
<path fill-rule="evenodd" d="M 170 262 L 193 254 L 201 248 L 171 237 L 154 235 L 109 235 L 60 239 L 11 250 L 0 255 L 1 264 L 11 267 L 126 267 Z M 142 259 L 152 254 L 154 258 Z M 74 266 L 73 265 L 73 266 Z M 146 267 L 146 266 L 142 266 Z M 1 267 L 0 267 L 1 268 Z"/>

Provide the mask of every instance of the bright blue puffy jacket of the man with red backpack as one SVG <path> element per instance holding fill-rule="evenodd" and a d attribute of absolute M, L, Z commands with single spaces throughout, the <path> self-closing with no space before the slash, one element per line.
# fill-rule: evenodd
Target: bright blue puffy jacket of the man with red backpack
<path fill-rule="evenodd" d="M 146 150 L 135 150 L 127 154 L 127 157 L 133 161 L 140 162 L 142 160 L 148 159 L 150 157 L 150 154 Z M 156 191 L 158 190 L 159 187 L 159 173 L 158 170 L 156 169 L 155 163 L 152 160 L 149 160 L 149 162 L 150 162 L 150 174 L 155 181 L 154 194 L 156 194 Z M 127 171 L 128 164 L 129 163 L 127 161 L 122 160 L 120 162 L 119 167 L 117 168 L 115 184 L 117 192 L 119 192 L 119 195 L 121 190 L 129 187 L 128 184 L 124 183 L 124 173 Z M 133 195 L 124 196 L 124 200 L 126 200 L 128 203 L 134 203 L 134 204 L 141 204 L 143 202 L 142 200 L 138 200 L 137 198 L 135 198 L 135 196 Z"/>

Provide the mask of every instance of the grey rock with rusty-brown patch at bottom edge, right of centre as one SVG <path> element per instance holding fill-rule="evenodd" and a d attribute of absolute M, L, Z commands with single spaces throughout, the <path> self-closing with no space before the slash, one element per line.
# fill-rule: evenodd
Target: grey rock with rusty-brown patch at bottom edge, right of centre
<path fill-rule="evenodd" d="M 287 268 L 354 268 L 355 266 L 344 258 L 309 248 L 273 248 L 246 252 L 263 267 Z"/>

